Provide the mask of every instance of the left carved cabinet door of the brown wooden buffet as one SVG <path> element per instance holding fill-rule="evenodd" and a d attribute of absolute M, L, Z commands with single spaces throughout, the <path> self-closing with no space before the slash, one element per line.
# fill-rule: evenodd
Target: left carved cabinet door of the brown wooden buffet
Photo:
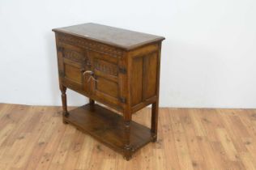
<path fill-rule="evenodd" d="M 80 93 L 89 94 L 92 85 L 87 82 L 89 75 L 84 74 L 90 69 L 86 50 L 73 45 L 62 45 L 59 49 L 62 52 L 62 66 L 59 70 L 63 85 Z"/>

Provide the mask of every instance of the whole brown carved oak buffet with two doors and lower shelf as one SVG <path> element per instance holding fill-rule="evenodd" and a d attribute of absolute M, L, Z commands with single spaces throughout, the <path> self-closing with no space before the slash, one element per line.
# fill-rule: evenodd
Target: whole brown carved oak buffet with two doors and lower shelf
<path fill-rule="evenodd" d="M 56 28 L 53 32 L 63 122 L 91 134 L 127 160 L 148 142 L 156 142 L 164 37 L 96 23 Z M 89 104 L 67 111 L 66 88 L 87 96 Z M 149 104 L 151 129 L 132 121 L 132 113 Z"/>

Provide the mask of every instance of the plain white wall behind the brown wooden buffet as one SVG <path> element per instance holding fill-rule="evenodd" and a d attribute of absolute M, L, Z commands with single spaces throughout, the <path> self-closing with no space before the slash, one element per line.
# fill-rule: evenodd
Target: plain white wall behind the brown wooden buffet
<path fill-rule="evenodd" d="M 1 0 L 0 102 L 61 104 L 51 29 L 87 22 L 166 37 L 161 106 L 256 108 L 255 0 Z"/>

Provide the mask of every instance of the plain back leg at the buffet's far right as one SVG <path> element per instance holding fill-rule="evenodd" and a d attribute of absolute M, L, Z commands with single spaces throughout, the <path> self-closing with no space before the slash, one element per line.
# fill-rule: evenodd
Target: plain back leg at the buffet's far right
<path fill-rule="evenodd" d="M 152 142 L 156 142 L 157 140 L 157 121 L 158 121 L 158 101 L 152 104 L 151 108 L 151 138 Z"/>

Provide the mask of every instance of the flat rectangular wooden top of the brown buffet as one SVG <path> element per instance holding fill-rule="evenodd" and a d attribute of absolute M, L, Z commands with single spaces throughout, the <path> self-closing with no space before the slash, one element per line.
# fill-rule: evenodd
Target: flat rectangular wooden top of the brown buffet
<path fill-rule="evenodd" d="M 114 45 L 126 50 L 164 40 L 163 36 L 154 36 L 122 28 L 113 28 L 97 23 L 83 23 L 65 28 L 55 28 L 53 32 L 64 32 L 88 40 L 97 40 L 101 43 Z"/>

